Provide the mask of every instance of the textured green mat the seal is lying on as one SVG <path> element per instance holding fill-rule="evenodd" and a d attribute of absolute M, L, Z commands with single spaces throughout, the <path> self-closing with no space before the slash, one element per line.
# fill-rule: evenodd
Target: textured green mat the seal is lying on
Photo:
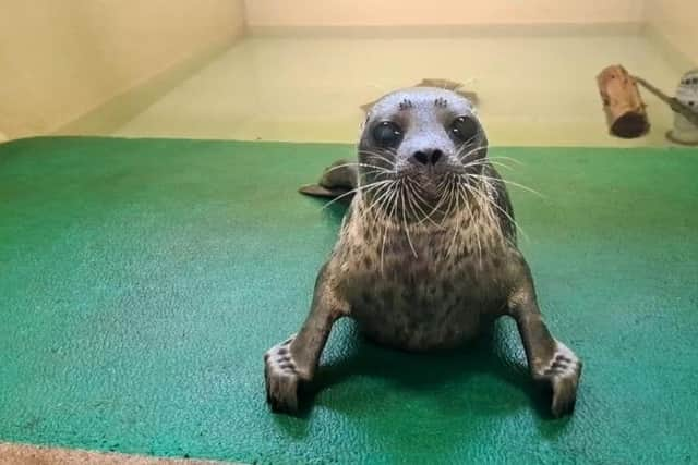
<path fill-rule="evenodd" d="M 585 360 L 553 420 L 510 322 L 410 355 L 333 333 L 310 408 L 265 405 L 341 209 L 345 145 L 0 145 L 0 440 L 258 463 L 697 463 L 698 151 L 498 148 L 551 329 Z"/>

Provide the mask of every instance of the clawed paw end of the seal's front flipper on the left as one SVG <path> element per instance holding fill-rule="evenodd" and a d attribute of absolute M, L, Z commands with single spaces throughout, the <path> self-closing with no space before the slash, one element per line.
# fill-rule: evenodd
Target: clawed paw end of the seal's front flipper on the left
<path fill-rule="evenodd" d="M 298 411 L 298 386 L 301 377 L 291 356 L 293 338 L 264 354 L 266 400 L 275 412 Z"/>

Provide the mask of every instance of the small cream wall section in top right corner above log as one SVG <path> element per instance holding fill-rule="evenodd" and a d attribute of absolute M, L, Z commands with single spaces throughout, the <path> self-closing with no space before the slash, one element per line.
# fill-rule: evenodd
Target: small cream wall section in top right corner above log
<path fill-rule="evenodd" d="M 698 66 L 698 0 L 647 0 L 646 19 L 666 45 Z"/>

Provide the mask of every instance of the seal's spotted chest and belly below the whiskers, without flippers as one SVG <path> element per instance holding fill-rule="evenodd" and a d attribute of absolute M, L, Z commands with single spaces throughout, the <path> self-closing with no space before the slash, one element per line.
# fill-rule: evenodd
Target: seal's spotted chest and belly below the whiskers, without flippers
<path fill-rule="evenodd" d="M 476 336 L 480 319 L 506 302 L 508 245 L 497 224 L 481 211 L 456 215 L 438 227 L 408 224 L 408 238 L 400 221 L 365 213 L 366 203 L 354 200 L 329 270 L 361 330 L 411 351 Z"/>

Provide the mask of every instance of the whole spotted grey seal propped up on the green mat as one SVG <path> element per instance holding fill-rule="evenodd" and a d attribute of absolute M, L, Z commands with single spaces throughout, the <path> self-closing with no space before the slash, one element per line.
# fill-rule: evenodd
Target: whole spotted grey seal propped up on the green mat
<path fill-rule="evenodd" d="M 336 163 L 301 189 L 353 198 L 305 322 L 264 355 L 272 408 L 298 409 L 299 384 L 313 379 L 339 318 L 377 343 L 430 351 L 508 316 L 533 380 L 552 391 L 552 414 L 571 412 L 582 365 L 539 310 L 506 183 L 471 102 L 430 87 L 388 94 L 368 113 L 358 151 L 358 162 Z"/>

